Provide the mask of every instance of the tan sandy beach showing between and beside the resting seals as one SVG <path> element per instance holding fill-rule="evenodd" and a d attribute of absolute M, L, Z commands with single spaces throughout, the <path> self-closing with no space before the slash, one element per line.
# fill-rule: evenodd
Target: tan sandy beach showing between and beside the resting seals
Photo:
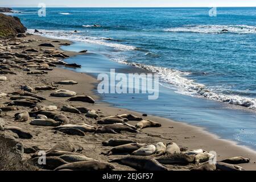
<path fill-rule="evenodd" d="M 36 39 L 35 42 L 24 42 L 24 40 Z M 26 45 L 24 48 L 17 49 L 9 49 L 10 52 L 22 52 L 28 48 L 33 48 L 38 50 L 39 52 L 26 52 L 27 55 L 42 55 L 44 51 L 47 49 L 55 49 L 55 51 L 60 50 L 61 43 L 71 43 L 67 40 L 58 40 L 56 42 L 55 39 L 44 38 L 42 36 L 37 35 L 27 35 L 26 38 L 18 38 L 15 42 L 19 42 L 19 46 Z M 22 43 L 23 42 L 23 43 Z M 7 42 L 9 44 L 10 41 Z M 55 47 L 41 47 L 38 46 L 42 43 L 51 43 Z M 0 42 L 0 44 L 3 44 Z M 10 45 L 8 45 L 10 46 Z M 3 46 L 4 47 L 4 46 Z M 15 47 L 15 46 L 14 46 Z M 63 52 L 68 56 L 76 56 L 82 53 L 77 52 Z M 64 60 L 65 61 L 65 60 Z M 86 60 L 85 60 L 86 61 Z M 36 67 L 35 67 L 36 68 Z M 32 70 L 36 70 L 34 67 L 31 67 Z M 1 103 L 10 101 L 11 94 L 20 89 L 20 85 L 29 85 L 32 88 L 36 86 L 44 86 L 51 85 L 52 82 L 58 82 L 62 80 L 74 80 L 78 82 L 76 85 L 57 85 L 57 89 L 65 89 L 72 90 L 77 93 L 77 96 L 85 95 L 90 96 L 96 100 L 96 104 L 89 104 L 85 102 L 72 102 L 67 101 L 68 98 L 63 97 L 51 97 L 50 94 L 55 92 L 55 90 L 40 90 L 34 91 L 34 93 L 39 94 L 46 98 L 46 100 L 42 101 L 40 104 L 46 105 L 56 105 L 58 109 L 57 113 L 61 113 L 66 115 L 69 118 L 70 124 L 77 123 L 86 123 L 88 125 L 92 125 L 94 127 L 98 127 L 99 125 L 96 123 L 96 119 L 85 117 L 85 114 L 74 114 L 65 111 L 61 111 L 61 107 L 63 105 L 73 105 L 73 106 L 84 106 L 89 109 L 93 109 L 98 111 L 98 115 L 100 118 L 109 117 L 111 115 L 120 115 L 120 114 L 134 114 L 138 117 L 142 117 L 143 119 L 150 119 L 155 122 L 161 123 L 162 127 L 150 127 L 146 129 L 142 129 L 139 133 L 128 133 L 121 132 L 121 134 L 94 134 L 94 133 L 85 133 L 85 136 L 77 136 L 77 135 L 68 135 L 59 131 L 51 130 L 52 127 L 49 126 L 33 126 L 30 125 L 30 122 L 33 118 L 26 122 L 15 122 L 14 114 L 20 113 L 21 111 L 30 111 L 29 107 L 17 106 L 19 110 L 16 111 L 2 111 L 1 115 L 5 121 L 6 126 L 17 126 L 21 129 L 28 131 L 33 138 L 31 139 L 20 139 L 18 140 L 23 143 L 26 147 L 37 147 L 40 150 L 48 150 L 49 148 L 55 146 L 61 142 L 71 142 L 80 144 L 84 150 L 80 151 L 80 154 L 83 154 L 89 158 L 96 159 L 100 162 L 109 162 L 110 159 L 122 158 L 123 155 L 100 155 L 101 152 L 107 152 L 112 147 L 102 146 L 102 142 L 108 140 L 110 138 L 122 138 L 122 139 L 131 139 L 135 140 L 138 143 L 146 143 L 146 144 L 156 144 L 158 142 L 175 142 L 178 144 L 180 148 L 185 150 L 194 150 L 202 148 L 205 151 L 216 151 L 217 160 L 224 160 L 227 158 L 231 158 L 234 156 L 243 156 L 244 158 L 250 158 L 250 163 L 247 164 L 239 164 L 239 166 L 245 168 L 246 170 L 256 170 L 256 152 L 250 150 L 249 148 L 238 146 L 234 142 L 230 142 L 228 140 L 222 140 L 217 138 L 216 136 L 209 134 L 204 129 L 199 127 L 190 126 L 184 123 L 175 122 L 166 118 L 159 118 L 153 115 L 148 115 L 147 117 L 143 117 L 144 113 L 137 113 L 135 111 L 119 109 L 116 107 L 112 107 L 106 103 L 100 102 L 100 96 L 93 92 L 96 87 L 97 80 L 92 76 L 86 75 L 85 73 L 76 73 L 67 69 L 64 69 L 63 66 L 50 67 L 53 68 L 52 71 L 47 71 L 47 74 L 42 75 L 27 75 L 26 71 L 23 71 L 19 68 L 11 68 L 12 71 L 16 73 L 16 75 L 1 75 L 6 76 L 6 81 L 0 81 L 2 93 L 7 93 L 6 97 L 1 98 Z M 138 121 L 129 121 L 127 123 L 131 125 L 135 125 Z M 5 133 L 6 131 L 1 131 L 1 133 Z M 8 134 L 8 133 L 6 133 Z M 32 154 L 24 154 L 24 159 L 30 159 Z M 114 170 L 134 170 L 131 167 L 127 167 L 122 164 L 112 163 L 115 167 Z M 187 166 L 179 166 L 179 165 L 166 165 L 166 167 L 170 170 L 189 170 L 191 168 L 197 167 L 195 164 L 189 164 Z"/>

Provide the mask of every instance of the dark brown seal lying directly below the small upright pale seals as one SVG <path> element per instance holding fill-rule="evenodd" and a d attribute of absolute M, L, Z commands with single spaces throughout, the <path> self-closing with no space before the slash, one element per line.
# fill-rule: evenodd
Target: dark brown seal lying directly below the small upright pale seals
<path fill-rule="evenodd" d="M 180 164 L 180 165 L 187 165 L 189 163 L 193 163 L 195 156 L 193 155 L 186 155 L 186 154 L 169 154 L 159 156 L 155 158 L 159 163 L 162 164 Z"/>

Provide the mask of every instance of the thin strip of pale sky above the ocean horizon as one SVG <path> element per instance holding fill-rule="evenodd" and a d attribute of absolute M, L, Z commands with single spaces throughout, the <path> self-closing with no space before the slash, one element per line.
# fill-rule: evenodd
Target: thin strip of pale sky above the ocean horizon
<path fill-rule="evenodd" d="M 256 0 L 0 0 L 0 7 L 256 7 Z"/>

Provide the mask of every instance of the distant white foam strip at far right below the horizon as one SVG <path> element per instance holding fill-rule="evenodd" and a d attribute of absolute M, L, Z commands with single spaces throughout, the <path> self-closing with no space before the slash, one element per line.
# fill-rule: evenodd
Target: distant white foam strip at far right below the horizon
<path fill-rule="evenodd" d="M 167 32 L 196 32 L 196 33 L 204 33 L 204 34 L 227 33 L 227 32 L 222 32 L 222 30 L 228 30 L 228 32 L 234 33 L 234 34 L 256 34 L 256 27 L 246 26 L 246 25 L 206 24 L 206 25 L 188 25 L 184 27 L 173 27 L 173 28 L 164 29 L 164 31 L 167 31 Z"/>

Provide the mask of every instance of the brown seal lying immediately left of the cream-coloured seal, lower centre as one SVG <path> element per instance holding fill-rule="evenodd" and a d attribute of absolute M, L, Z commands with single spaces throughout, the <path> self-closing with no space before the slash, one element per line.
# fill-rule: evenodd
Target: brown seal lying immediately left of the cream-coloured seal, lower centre
<path fill-rule="evenodd" d="M 147 146 L 146 143 L 129 143 L 129 144 L 123 144 L 121 146 L 113 147 L 111 150 L 108 152 L 104 153 L 102 152 L 101 154 L 103 155 L 112 155 L 112 154 L 131 154 L 135 150 L 138 150 L 141 147 Z"/>

